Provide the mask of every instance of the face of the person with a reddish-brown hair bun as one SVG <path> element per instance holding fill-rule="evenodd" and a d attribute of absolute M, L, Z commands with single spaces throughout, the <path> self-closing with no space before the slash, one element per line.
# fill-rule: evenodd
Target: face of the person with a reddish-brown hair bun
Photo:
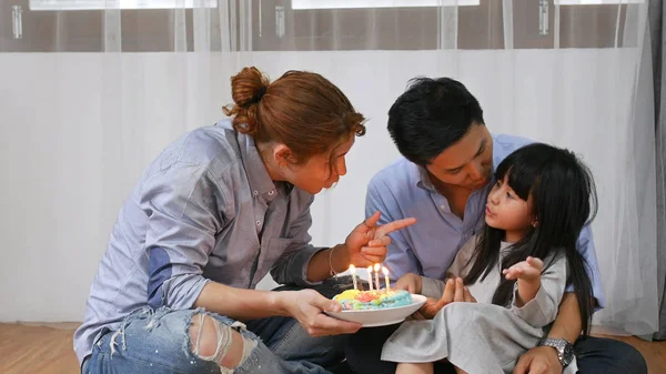
<path fill-rule="evenodd" d="M 280 168 L 281 179 L 312 194 L 330 189 L 337 183 L 340 176 L 346 174 L 345 156 L 354 145 L 354 140 L 355 137 L 352 135 L 333 150 L 335 168 L 331 168 L 329 153 L 315 154 L 301 164 L 289 163 L 276 154 L 279 164 L 283 165 Z"/>

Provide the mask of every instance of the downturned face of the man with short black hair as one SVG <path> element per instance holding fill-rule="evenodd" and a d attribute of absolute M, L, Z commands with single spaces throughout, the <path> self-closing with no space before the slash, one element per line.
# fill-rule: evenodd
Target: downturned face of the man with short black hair
<path fill-rule="evenodd" d="M 425 168 L 444 184 L 480 190 L 492 178 L 493 138 L 484 124 L 472 124 L 465 137 Z"/>

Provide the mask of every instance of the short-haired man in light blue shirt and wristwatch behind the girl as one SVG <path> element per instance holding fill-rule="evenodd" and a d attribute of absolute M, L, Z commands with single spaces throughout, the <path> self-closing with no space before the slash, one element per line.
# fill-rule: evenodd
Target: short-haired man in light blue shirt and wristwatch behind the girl
<path fill-rule="evenodd" d="M 404 158 L 373 178 L 366 212 L 381 211 L 385 222 L 413 216 L 417 224 L 391 234 L 386 266 L 395 277 L 415 273 L 444 280 L 458 249 L 483 224 L 494 165 L 531 141 L 491 135 L 478 101 L 448 78 L 414 80 L 389 111 L 389 132 Z M 589 228 L 581 234 L 578 250 L 589 266 L 598 310 L 605 301 Z M 474 302 L 462 284 L 450 284 L 438 303 L 425 305 L 426 314 L 452 301 Z M 565 293 L 548 335 L 521 356 L 514 374 L 561 374 L 573 353 L 582 374 L 647 373 L 645 360 L 630 345 L 579 337 L 582 322 L 572 291 Z M 380 354 L 397 326 L 363 328 L 353 335 L 346 350 L 352 370 L 394 373 L 395 363 L 380 361 Z M 452 370 L 446 364 L 437 367 Z"/>

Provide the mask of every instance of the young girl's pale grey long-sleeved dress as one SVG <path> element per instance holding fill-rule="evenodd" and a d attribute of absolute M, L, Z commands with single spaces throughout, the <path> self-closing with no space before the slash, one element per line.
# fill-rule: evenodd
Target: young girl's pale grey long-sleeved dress
<path fill-rule="evenodd" d="M 450 277 L 465 276 L 475 244 L 476 239 L 472 237 L 458 251 L 447 271 Z M 511 251 L 509 245 L 502 243 L 501 257 Z M 547 266 L 551 261 L 546 259 L 544 264 Z M 497 264 L 495 272 L 468 286 L 477 303 L 451 303 L 434 320 L 403 323 L 384 344 L 382 360 L 424 363 L 446 358 L 468 374 L 511 373 L 519 356 L 536 346 L 557 316 L 566 286 L 566 257 L 557 256 L 542 274 L 536 297 L 522 307 L 515 305 L 517 289 L 514 289 L 511 307 L 492 304 L 501 276 L 501 264 Z M 444 286 L 443 281 L 423 277 L 422 294 L 440 299 Z M 564 373 L 576 372 L 574 360 Z"/>

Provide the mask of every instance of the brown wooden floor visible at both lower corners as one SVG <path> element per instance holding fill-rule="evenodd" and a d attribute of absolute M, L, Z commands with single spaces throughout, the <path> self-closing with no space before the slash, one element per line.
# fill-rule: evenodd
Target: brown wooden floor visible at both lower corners
<path fill-rule="evenodd" d="M 79 366 L 72 351 L 77 324 L 0 324 L 0 373 L 2 374 L 77 374 Z M 605 335 L 604 335 L 605 336 Z M 638 348 L 649 374 L 666 373 L 666 342 L 616 337 Z"/>

